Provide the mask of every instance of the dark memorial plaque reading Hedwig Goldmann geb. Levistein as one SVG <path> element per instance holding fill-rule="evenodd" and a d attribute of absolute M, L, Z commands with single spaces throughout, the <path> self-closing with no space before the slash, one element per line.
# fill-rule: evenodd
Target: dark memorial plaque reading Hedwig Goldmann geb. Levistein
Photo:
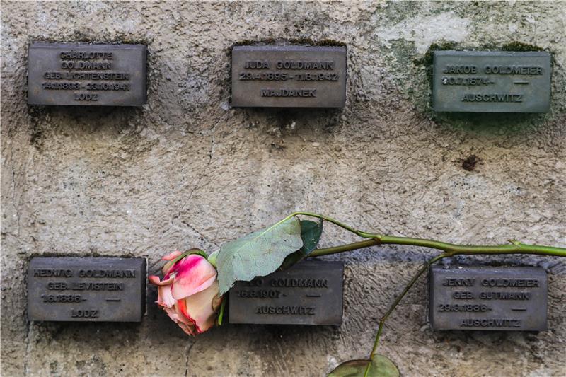
<path fill-rule="evenodd" d="M 140 322 L 146 260 L 35 257 L 28 267 L 28 319 Z"/>

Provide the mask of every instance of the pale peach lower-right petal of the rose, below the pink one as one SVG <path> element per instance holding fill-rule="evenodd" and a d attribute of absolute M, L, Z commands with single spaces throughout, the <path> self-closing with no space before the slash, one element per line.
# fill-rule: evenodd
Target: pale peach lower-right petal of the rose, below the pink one
<path fill-rule="evenodd" d="M 214 281 L 211 286 L 204 291 L 185 298 L 184 308 L 187 318 L 195 322 L 197 332 L 205 332 L 214 326 L 216 310 L 213 308 L 213 301 L 218 303 L 218 282 Z M 183 300 L 180 300 L 183 301 Z M 216 306 L 218 308 L 218 306 Z"/>

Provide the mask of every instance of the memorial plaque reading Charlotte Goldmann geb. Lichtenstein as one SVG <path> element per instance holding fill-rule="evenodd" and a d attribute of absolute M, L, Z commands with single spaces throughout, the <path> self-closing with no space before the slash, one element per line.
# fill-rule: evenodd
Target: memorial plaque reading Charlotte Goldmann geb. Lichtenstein
<path fill-rule="evenodd" d="M 146 101 L 146 46 L 33 42 L 30 105 L 141 106 Z"/>

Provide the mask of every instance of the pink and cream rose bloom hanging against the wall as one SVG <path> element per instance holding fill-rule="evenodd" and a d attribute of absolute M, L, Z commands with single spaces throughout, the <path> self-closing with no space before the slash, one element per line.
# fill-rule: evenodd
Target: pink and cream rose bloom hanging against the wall
<path fill-rule="evenodd" d="M 163 257 L 163 280 L 150 276 L 156 284 L 158 303 L 188 335 L 196 335 L 214 326 L 216 311 L 222 302 L 218 292 L 216 269 L 199 254 L 189 254 L 173 263 L 180 251 Z"/>

